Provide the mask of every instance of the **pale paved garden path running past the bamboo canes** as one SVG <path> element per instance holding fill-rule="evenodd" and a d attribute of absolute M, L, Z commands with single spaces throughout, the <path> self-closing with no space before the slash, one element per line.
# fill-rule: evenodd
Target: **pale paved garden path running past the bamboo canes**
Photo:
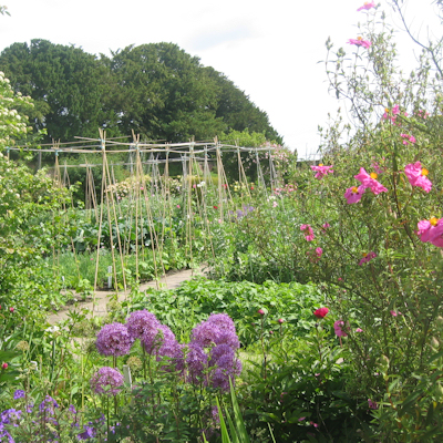
<path fill-rule="evenodd" d="M 175 289 L 178 288 L 183 281 L 190 280 L 194 276 L 202 276 L 203 274 L 203 267 L 197 269 L 185 269 L 169 272 L 159 278 L 158 281 L 151 280 L 140 285 L 140 290 L 143 292 L 147 288 Z M 127 296 L 130 292 L 131 290 L 120 291 L 119 300 L 124 300 L 125 296 Z M 109 303 L 112 296 L 115 296 L 115 291 L 97 290 L 95 291 L 95 303 L 92 300 L 86 300 L 79 301 L 76 305 L 72 305 L 70 307 L 64 307 L 56 313 L 52 313 L 51 316 L 49 316 L 48 322 L 50 324 L 56 324 L 60 321 L 65 320 L 69 312 L 75 309 L 87 309 L 93 317 L 104 317 L 107 313 L 106 305 Z M 80 295 L 79 298 L 81 298 Z"/>

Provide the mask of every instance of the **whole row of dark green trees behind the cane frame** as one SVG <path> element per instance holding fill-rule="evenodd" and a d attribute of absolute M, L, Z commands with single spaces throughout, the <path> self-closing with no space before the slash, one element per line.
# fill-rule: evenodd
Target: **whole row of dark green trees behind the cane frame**
<path fill-rule="evenodd" d="M 173 43 L 130 45 L 100 58 L 47 40 L 14 43 L 0 54 L 0 70 L 16 92 L 30 95 L 29 113 L 47 140 L 111 136 L 178 142 L 229 131 L 265 133 L 279 143 L 266 112 L 224 74 Z"/>

